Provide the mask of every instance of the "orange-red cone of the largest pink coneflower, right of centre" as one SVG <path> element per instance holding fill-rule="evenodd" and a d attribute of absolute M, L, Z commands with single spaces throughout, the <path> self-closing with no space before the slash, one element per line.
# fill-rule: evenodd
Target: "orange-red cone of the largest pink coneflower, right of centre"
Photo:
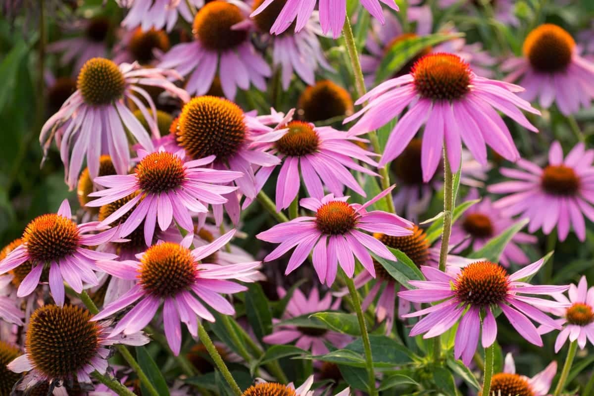
<path fill-rule="evenodd" d="M 415 89 L 431 100 L 456 100 L 470 91 L 470 68 L 460 56 L 429 53 L 416 61 L 410 71 Z"/>

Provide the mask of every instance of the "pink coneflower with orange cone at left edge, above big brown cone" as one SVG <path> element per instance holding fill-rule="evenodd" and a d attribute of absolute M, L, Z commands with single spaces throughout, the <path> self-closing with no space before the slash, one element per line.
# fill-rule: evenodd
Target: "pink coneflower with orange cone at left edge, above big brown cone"
<path fill-rule="evenodd" d="M 17 268 L 26 261 L 31 264 L 29 274 L 21 281 L 18 297 L 33 293 L 42 273 L 48 274 L 49 289 L 56 305 L 64 305 L 64 281 L 77 293 L 83 291 L 83 281 L 90 285 L 98 283 L 94 271 L 97 260 L 109 260 L 116 255 L 96 252 L 83 246 L 97 246 L 116 239 L 118 229 L 99 234 L 99 222 L 76 224 L 68 200 L 64 199 L 58 213 L 44 214 L 34 218 L 23 233 L 22 243 L 0 261 L 0 274 Z"/>

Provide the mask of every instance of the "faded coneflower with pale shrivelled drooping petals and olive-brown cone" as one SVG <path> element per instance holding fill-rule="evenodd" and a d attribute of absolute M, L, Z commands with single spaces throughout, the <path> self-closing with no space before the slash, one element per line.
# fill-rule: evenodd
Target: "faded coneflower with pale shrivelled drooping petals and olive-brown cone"
<path fill-rule="evenodd" d="M 138 85 L 150 85 L 189 100 L 186 91 L 176 87 L 166 77 L 179 78 L 172 70 L 143 69 L 138 64 L 122 64 L 119 67 L 103 58 L 93 58 L 84 64 L 78 74 L 77 90 L 43 125 L 39 141 L 49 146 L 53 130 L 64 125 L 61 132 L 60 154 L 65 166 L 66 181 L 70 188 L 76 186 L 83 158 L 86 156 L 91 179 L 99 173 L 99 157 L 109 153 L 113 165 L 121 175 L 128 173 L 130 154 L 127 132 L 146 150 L 152 150 L 150 135 L 125 100 L 133 102 L 150 126 L 152 134 L 159 137 L 153 100 Z M 149 103 L 138 99 L 138 95 Z M 66 125 L 67 124 L 67 125 Z M 69 155 L 69 151 L 72 154 Z"/>

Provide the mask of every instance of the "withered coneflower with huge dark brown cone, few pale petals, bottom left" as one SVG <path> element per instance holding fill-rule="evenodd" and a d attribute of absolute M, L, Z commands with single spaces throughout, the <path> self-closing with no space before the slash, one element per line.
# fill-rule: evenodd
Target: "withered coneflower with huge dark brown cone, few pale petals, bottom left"
<path fill-rule="evenodd" d="M 42 381 L 90 383 L 92 372 L 104 374 L 108 369 L 110 346 L 149 343 L 140 332 L 112 337 L 109 325 L 109 321 L 93 321 L 89 311 L 77 306 L 42 306 L 31 315 L 25 354 L 12 360 L 8 369 L 27 372 L 21 390 Z"/>

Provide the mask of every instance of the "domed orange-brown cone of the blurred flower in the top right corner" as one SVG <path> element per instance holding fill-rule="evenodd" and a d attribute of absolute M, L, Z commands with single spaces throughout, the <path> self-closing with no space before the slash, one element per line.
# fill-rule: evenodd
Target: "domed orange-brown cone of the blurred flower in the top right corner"
<path fill-rule="evenodd" d="M 530 31 L 523 45 L 524 56 L 542 73 L 564 71 L 571 63 L 576 42 L 563 28 L 545 23 Z"/>

